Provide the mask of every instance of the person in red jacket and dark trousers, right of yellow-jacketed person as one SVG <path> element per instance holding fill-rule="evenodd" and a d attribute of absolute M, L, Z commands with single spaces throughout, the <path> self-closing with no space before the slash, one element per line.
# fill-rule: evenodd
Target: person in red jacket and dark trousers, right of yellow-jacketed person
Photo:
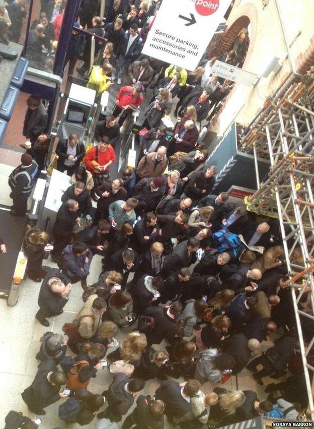
<path fill-rule="evenodd" d="M 113 110 L 114 117 L 119 116 L 122 112 L 122 109 L 133 104 L 135 107 L 139 107 L 144 100 L 142 95 L 142 87 L 136 86 L 133 88 L 132 86 L 124 86 L 120 89 L 116 99 L 116 107 Z M 123 122 L 127 118 L 127 116 L 132 112 L 131 109 L 125 109 L 119 118 L 119 125 L 122 126 Z"/>

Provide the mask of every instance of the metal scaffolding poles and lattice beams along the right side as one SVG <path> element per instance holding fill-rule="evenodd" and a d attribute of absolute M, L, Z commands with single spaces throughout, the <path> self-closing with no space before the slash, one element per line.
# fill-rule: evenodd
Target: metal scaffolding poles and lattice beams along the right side
<path fill-rule="evenodd" d="M 314 336 L 304 340 L 304 322 L 314 325 L 314 67 L 301 80 L 290 76 L 277 93 L 268 97 L 264 109 L 245 130 L 240 150 L 269 159 L 269 177 L 247 199 L 247 209 L 277 218 L 283 238 L 287 271 L 300 339 L 302 362 L 314 419 L 314 368 L 306 356 Z M 256 161 L 257 162 L 257 161 Z M 256 163 L 257 165 L 257 163 Z M 305 313 L 299 302 L 310 296 L 311 309 Z M 307 334 L 308 337 L 308 334 Z"/>

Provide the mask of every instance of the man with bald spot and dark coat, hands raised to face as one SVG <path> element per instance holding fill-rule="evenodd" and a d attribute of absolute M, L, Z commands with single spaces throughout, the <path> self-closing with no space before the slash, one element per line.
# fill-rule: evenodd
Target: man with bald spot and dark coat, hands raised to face
<path fill-rule="evenodd" d="M 39 310 L 36 319 L 43 325 L 49 326 L 46 317 L 63 313 L 63 307 L 68 301 L 72 289 L 70 280 L 56 269 L 50 269 L 44 278 L 38 295 Z"/>

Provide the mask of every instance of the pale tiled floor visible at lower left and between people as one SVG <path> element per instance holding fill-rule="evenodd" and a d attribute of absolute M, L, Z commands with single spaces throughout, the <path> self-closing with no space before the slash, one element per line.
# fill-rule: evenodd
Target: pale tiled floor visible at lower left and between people
<path fill-rule="evenodd" d="M 46 265 L 55 266 L 55 264 L 50 262 Z M 2 269 L 4 269 L 4 267 L 2 267 Z M 96 256 L 92 261 L 88 284 L 95 282 L 98 279 L 99 273 L 100 257 Z M 0 353 L 0 383 L 2 392 L 6 392 L 6 394 L 0 397 L 0 427 L 3 427 L 4 418 L 11 409 L 21 411 L 25 415 L 33 417 L 21 398 L 21 392 L 32 383 L 36 374 L 38 361 L 35 355 L 40 348 L 40 337 L 49 330 L 61 333 L 62 325 L 72 321 L 82 305 L 81 285 L 75 284 L 71 292 L 70 300 L 64 308 L 64 313 L 49 319 L 50 327 L 45 328 L 40 325 L 34 317 L 38 310 L 37 298 L 39 288 L 40 283 L 35 283 L 26 279 L 21 286 L 19 300 L 15 307 L 8 307 L 6 301 L 0 301 L 0 312 L 2 315 L 2 330 L 0 331 L 0 344 L 2 349 Z M 123 331 L 123 334 L 125 334 L 127 329 Z M 118 339 L 119 338 L 121 338 L 121 333 L 118 335 Z M 163 343 L 159 348 L 163 348 Z M 107 369 L 100 370 L 96 379 L 91 380 L 89 389 L 94 393 L 101 393 L 103 390 L 107 389 L 111 380 L 112 376 Z M 238 376 L 238 381 L 236 377 L 231 377 L 223 387 L 236 390 L 237 383 L 238 389 L 256 390 L 260 398 L 264 398 L 265 394 L 262 387 L 256 385 L 247 370 L 244 370 L 241 375 Z M 156 380 L 151 380 L 146 383 L 143 393 L 153 395 L 158 386 Z M 211 383 L 205 383 L 202 386 L 202 390 L 204 392 L 209 392 L 214 387 L 215 385 Z M 58 419 L 58 406 L 60 403 L 61 400 L 45 409 L 46 415 L 41 417 L 42 424 L 40 425 L 40 429 L 81 427 L 76 424 L 65 425 Z M 95 427 L 95 422 L 96 418 L 89 426 L 84 427 L 93 428 Z M 167 422 L 165 427 L 170 427 Z"/>

